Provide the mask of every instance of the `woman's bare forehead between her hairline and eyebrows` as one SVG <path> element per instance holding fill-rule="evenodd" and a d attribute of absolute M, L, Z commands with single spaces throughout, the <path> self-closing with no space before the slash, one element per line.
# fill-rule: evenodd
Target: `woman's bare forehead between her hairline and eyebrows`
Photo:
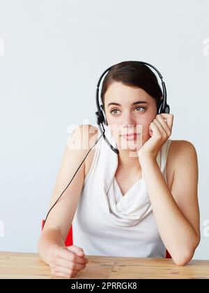
<path fill-rule="evenodd" d="M 121 105 L 134 103 L 136 100 L 144 100 L 150 102 L 153 98 L 144 89 L 139 87 L 130 87 L 121 82 L 114 82 L 109 86 L 104 94 L 104 102 L 116 102 Z"/>

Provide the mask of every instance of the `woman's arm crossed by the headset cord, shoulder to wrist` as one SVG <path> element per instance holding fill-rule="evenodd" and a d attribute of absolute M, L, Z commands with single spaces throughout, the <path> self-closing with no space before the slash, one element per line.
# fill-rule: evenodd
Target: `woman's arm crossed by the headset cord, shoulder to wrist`
<path fill-rule="evenodd" d="M 89 134 L 89 129 L 88 125 L 78 126 L 75 132 L 70 136 L 68 145 L 65 147 L 49 207 L 56 202 L 56 199 L 61 195 L 66 186 L 68 186 L 72 176 L 86 156 L 89 150 L 89 138 L 92 136 L 92 134 Z M 74 146 L 74 149 L 72 149 L 72 146 Z M 65 246 L 65 238 L 70 230 L 73 217 L 75 216 L 79 196 L 84 183 L 84 168 L 85 161 L 60 200 L 56 203 L 52 211 L 50 211 L 40 235 L 38 252 L 40 258 L 47 264 L 49 264 L 51 260 L 52 251 L 61 246 Z"/>

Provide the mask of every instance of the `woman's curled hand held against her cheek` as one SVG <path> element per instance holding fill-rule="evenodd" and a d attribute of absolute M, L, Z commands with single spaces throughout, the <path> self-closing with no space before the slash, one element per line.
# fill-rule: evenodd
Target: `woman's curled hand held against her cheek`
<path fill-rule="evenodd" d="M 167 121 L 164 121 L 167 119 Z M 162 145 L 171 136 L 173 126 L 173 114 L 157 114 L 156 118 L 150 123 L 150 138 L 143 144 L 138 151 L 139 163 L 144 158 L 157 158 L 157 153 Z"/>

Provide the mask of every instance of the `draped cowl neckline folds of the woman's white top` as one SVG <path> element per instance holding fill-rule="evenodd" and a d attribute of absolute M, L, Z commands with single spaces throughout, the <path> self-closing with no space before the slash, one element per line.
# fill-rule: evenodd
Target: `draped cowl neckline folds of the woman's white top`
<path fill-rule="evenodd" d="M 117 147 L 109 126 L 105 126 L 105 135 L 113 147 Z M 157 153 L 157 163 L 160 166 L 161 151 Z M 100 183 L 103 183 L 104 193 L 100 201 L 100 208 L 115 225 L 128 227 L 137 225 L 152 211 L 148 197 L 148 189 L 144 180 L 143 170 L 141 179 L 137 180 L 123 195 L 115 178 L 118 167 L 118 155 L 114 153 L 102 138 L 100 162 Z"/>

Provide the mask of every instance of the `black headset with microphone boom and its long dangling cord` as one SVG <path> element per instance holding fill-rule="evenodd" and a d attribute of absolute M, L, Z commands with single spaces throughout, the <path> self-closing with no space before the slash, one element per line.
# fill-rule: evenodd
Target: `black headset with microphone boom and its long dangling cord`
<path fill-rule="evenodd" d="M 158 105 L 158 108 L 157 108 L 157 113 L 158 114 L 161 114 L 161 113 L 167 113 L 169 114 L 170 112 L 170 107 L 169 105 L 167 104 L 167 89 L 166 89 L 166 86 L 164 84 L 164 81 L 162 79 L 162 75 L 160 74 L 160 71 L 157 70 L 157 68 L 155 68 L 155 66 L 151 65 L 150 63 L 146 63 L 146 62 L 143 62 L 143 61 L 135 61 L 135 62 L 138 62 L 138 63 L 141 63 L 141 64 L 144 64 L 144 65 L 148 65 L 150 66 L 151 68 L 153 68 L 156 72 L 157 72 L 157 75 L 159 75 L 160 77 L 160 80 L 161 80 L 161 83 L 162 83 L 162 100 L 160 100 L 160 103 Z M 113 66 L 115 66 L 116 64 L 114 64 Z M 96 94 L 95 94 L 95 98 L 96 98 L 96 105 L 97 105 L 97 108 L 98 108 L 98 111 L 95 112 L 95 117 L 96 117 L 96 122 L 98 124 L 98 128 L 100 129 L 100 132 L 102 133 L 102 135 L 100 135 L 100 137 L 98 138 L 98 140 L 96 140 L 95 144 L 98 143 L 98 141 L 100 140 L 101 137 L 104 138 L 105 142 L 107 142 L 107 144 L 109 145 L 109 147 L 116 153 L 118 154 L 119 151 L 117 148 L 114 148 L 110 142 L 107 140 L 107 137 L 105 136 L 105 129 L 104 129 L 104 125 L 108 125 L 107 124 L 107 119 L 105 117 L 105 114 L 104 114 L 104 105 L 100 105 L 100 102 L 99 102 L 99 87 L 100 87 L 100 82 L 102 80 L 102 77 L 104 76 L 105 73 L 109 72 L 109 70 L 111 70 L 111 68 L 113 68 L 113 66 L 107 68 L 106 70 L 104 70 L 104 72 L 102 73 L 102 75 L 100 76 L 99 80 L 98 80 L 98 84 L 97 84 L 97 88 L 96 88 Z M 95 144 L 93 145 L 93 147 L 95 146 Z M 91 149 L 93 149 L 93 147 L 91 147 Z M 88 153 L 91 151 L 91 149 L 89 149 Z M 86 159 L 86 157 L 88 156 L 88 153 L 86 154 L 86 156 L 84 157 L 84 160 Z M 84 160 L 82 160 L 82 163 L 84 163 Z M 72 176 L 72 179 L 75 177 L 75 175 L 77 174 L 79 168 L 81 167 L 82 163 L 79 165 L 79 167 L 77 168 L 77 171 L 75 172 L 75 174 Z M 72 182 L 72 179 L 70 180 L 70 182 L 68 183 L 68 186 L 70 185 L 70 183 Z M 49 213 L 50 211 L 52 211 L 52 209 L 54 208 L 55 204 L 59 201 L 59 199 L 61 198 L 61 196 L 63 195 L 63 193 L 65 192 L 65 190 L 68 188 L 68 186 L 66 186 L 66 188 L 63 190 L 63 192 L 61 193 L 61 195 L 58 197 L 58 199 L 56 200 L 56 202 L 53 204 L 53 206 L 49 209 L 48 213 L 47 213 L 47 216 L 45 218 L 45 222 L 49 216 Z M 43 224 L 43 226 L 45 225 L 45 222 Z"/>

